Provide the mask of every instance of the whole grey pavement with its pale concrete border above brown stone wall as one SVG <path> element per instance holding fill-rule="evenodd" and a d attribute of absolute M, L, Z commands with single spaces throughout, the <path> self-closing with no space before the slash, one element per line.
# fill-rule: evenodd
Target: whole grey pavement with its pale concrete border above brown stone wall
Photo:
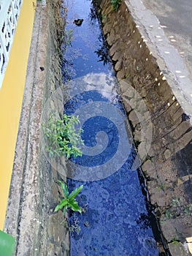
<path fill-rule="evenodd" d="M 160 57 L 167 80 L 185 113 L 192 116 L 192 1 L 126 0 Z M 161 69 L 162 70 L 162 69 Z M 191 120 L 192 124 L 192 120 Z"/>

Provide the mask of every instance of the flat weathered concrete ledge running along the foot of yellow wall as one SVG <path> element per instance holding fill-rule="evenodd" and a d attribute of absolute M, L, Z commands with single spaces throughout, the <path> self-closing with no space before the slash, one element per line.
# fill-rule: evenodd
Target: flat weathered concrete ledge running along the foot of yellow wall
<path fill-rule="evenodd" d="M 4 230 L 16 238 L 15 255 L 28 255 L 26 248 L 32 246 L 29 242 L 30 236 L 34 236 L 39 228 L 37 222 L 32 223 L 31 220 L 37 218 L 39 122 L 45 86 L 45 72 L 39 67 L 45 64 L 46 58 L 45 13 L 46 7 L 37 4 L 4 225 Z M 27 233 L 27 230 L 30 230 L 30 233 Z"/>

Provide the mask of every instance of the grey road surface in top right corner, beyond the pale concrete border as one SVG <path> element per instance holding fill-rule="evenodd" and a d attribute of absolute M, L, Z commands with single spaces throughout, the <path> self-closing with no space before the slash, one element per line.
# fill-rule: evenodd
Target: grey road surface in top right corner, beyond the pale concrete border
<path fill-rule="evenodd" d="M 191 0 L 144 0 L 169 38 L 177 48 L 192 75 L 192 1 Z"/>

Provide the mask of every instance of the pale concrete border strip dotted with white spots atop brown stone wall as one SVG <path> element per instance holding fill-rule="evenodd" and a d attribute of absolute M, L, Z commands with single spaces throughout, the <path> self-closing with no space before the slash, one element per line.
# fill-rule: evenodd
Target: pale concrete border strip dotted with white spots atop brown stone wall
<path fill-rule="evenodd" d="M 153 12 L 147 10 L 142 1 L 125 0 L 125 3 L 129 12 L 131 12 L 132 19 L 143 41 L 150 49 L 150 53 L 155 57 L 158 67 L 161 69 L 162 78 L 166 78 L 181 108 L 191 117 L 192 125 L 191 79 L 183 59 L 177 49 L 170 44 L 158 18 L 156 18 Z M 164 42 L 158 41 L 159 37 L 164 38 Z M 172 59 L 172 56 L 174 56 L 174 59 Z M 177 74 L 175 72 L 177 70 L 184 72 L 185 78 Z"/>

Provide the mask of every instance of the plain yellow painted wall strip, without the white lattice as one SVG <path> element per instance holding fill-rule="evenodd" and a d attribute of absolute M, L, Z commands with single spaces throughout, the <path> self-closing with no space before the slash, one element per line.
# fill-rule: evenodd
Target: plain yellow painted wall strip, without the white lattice
<path fill-rule="evenodd" d="M 34 23 L 35 0 L 23 0 L 9 63 L 0 89 L 0 229 L 4 219 L 12 176 L 20 111 L 26 80 L 28 54 Z"/>

